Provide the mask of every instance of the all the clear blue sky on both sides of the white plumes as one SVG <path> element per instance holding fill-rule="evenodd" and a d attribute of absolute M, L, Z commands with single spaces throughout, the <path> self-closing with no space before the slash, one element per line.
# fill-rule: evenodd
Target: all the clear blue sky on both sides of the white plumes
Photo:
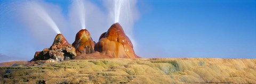
<path fill-rule="evenodd" d="M 17 1 L 1 0 L 0 57 L 30 60 L 52 42 L 42 43 L 45 38 L 36 38 L 37 33 L 23 26 L 15 12 L 9 12 L 5 5 L 13 2 Z M 71 1 L 42 2 L 58 6 L 63 20 L 68 20 Z M 89 2 L 107 11 L 101 0 Z M 256 1 L 139 0 L 136 6 L 139 18 L 132 32 L 135 53 L 141 57 L 256 58 Z M 75 31 L 66 35 L 69 43 L 73 43 Z M 49 40 L 54 37 L 52 34 Z"/>

